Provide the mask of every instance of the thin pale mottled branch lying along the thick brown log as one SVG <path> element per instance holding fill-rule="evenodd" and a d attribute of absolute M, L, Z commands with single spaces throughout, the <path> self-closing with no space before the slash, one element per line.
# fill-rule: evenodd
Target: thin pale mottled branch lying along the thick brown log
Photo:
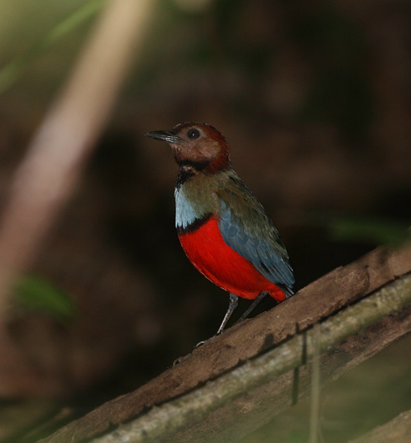
<path fill-rule="evenodd" d="M 347 307 L 321 323 L 317 335 L 320 352 L 343 342 L 385 315 L 401 311 L 410 302 L 411 276 L 395 280 L 372 296 L 352 307 Z M 171 436 L 173 438 L 169 441 L 188 441 L 184 435 L 186 437 L 189 435 L 191 440 L 192 431 L 184 435 L 180 434 L 178 438 L 175 438 L 173 434 L 190 424 L 199 422 L 211 411 L 229 405 L 239 396 L 249 394 L 257 387 L 266 385 L 269 381 L 273 382 L 280 375 L 301 366 L 304 359 L 310 359 L 314 353 L 315 333 L 316 331 L 310 329 L 306 333 L 297 334 L 264 355 L 247 361 L 239 368 L 220 376 L 215 381 L 209 381 L 205 386 L 197 388 L 182 398 L 151 409 L 140 418 L 123 424 L 119 429 L 103 437 L 92 440 L 92 443 L 157 442 L 164 440 L 164 437 L 170 439 Z M 219 414 L 221 415 L 221 411 Z M 224 415 L 227 416 L 227 414 Z M 237 422 L 238 418 L 234 418 L 233 421 Z M 214 427 L 212 429 L 213 441 L 216 441 L 215 429 Z M 203 432 L 202 435 L 203 438 L 206 435 L 210 436 L 210 430 L 208 433 Z M 198 441 L 197 438 L 196 441 Z"/>

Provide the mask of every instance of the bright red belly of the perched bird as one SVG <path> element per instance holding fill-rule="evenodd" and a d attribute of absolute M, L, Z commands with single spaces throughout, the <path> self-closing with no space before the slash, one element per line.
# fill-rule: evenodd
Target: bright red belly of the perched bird
<path fill-rule="evenodd" d="M 275 300 L 285 300 L 284 291 L 227 246 L 214 217 L 194 232 L 179 235 L 179 241 L 192 265 L 225 291 L 250 300 L 267 291 Z"/>

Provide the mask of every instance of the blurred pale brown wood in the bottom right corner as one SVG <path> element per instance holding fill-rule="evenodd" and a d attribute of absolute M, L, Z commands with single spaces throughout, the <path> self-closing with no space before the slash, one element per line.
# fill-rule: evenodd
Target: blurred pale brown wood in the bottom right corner
<path fill-rule="evenodd" d="M 378 426 L 349 443 L 409 443 L 411 438 L 411 411 L 402 412 L 388 423 Z"/>

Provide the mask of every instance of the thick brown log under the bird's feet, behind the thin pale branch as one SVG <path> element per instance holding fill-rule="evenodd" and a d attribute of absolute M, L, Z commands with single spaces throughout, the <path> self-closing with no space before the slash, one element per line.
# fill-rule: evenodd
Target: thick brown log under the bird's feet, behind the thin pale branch
<path fill-rule="evenodd" d="M 160 405 L 171 398 L 189 392 L 201 385 L 201 383 L 213 379 L 223 372 L 227 372 L 227 370 L 231 370 L 241 361 L 256 357 L 261 352 L 273 348 L 273 346 L 280 342 L 284 342 L 284 339 L 287 337 L 295 335 L 296 328 L 299 331 L 306 329 L 308 326 L 347 307 L 348 304 L 370 294 L 375 289 L 393 280 L 396 276 L 410 271 L 411 252 L 409 248 L 397 251 L 378 248 L 362 257 L 362 259 L 345 267 L 339 267 L 316 280 L 316 282 L 301 289 L 297 296 L 279 304 L 271 311 L 230 328 L 226 333 L 212 340 L 212 342 L 193 351 L 192 355 L 189 355 L 182 363 L 179 363 L 174 368 L 170 368 L 146 385 L 140 387 L 140 389 L 105 403 L 105 405 L 95 409 L 90 414 L 60 429 L 60 431 L 43 440 L 43 442 L 80 442 L 107 431 L 112 424 L 121 424 L 129 421 L 141 414 L 144 409 L 153 407 L 153 405 Z M 384 292 L 382 297 L 385 297 Z M 364 302 L 367 303 L 368 300 L 364 300 Z M 371 302 L 371 305 L 373 306 L 373 302 Z M 355 308 L 356 306 L 353 306 L 347 312 L 351 312 L 351 309 Z M 384 311 L 384 303 L 380 308 Z M 386 313 L 386 311 L 384 312 Z M 341 312 L 338 315 L 344 314 L 345 312 Z M 340 319 L 340 317 L 336 318 Z M 377 318 L 374 318 L 374 320 L 377 320 Z M 349 328 L 351 333 L 358 331 L 357 327 L 364 328 L 368 324 L 362 324 L 360 320 L 355 322 L 352 314 L 348 315 L 346 320 L 344 328 Z M 327 322 L 321 325 L 322 329 L 327 327 Z M 347 331 L 344 331 L 344 328 L 339 339 L 347 337 L 345 335 Z M 409 315 L 400 315 L 397 318 L 381 320 L 376 326 L 366 331 L 362 341 L 348 339 L 345 344 L 340 345 L 338 352 L 327 352 L 323 355 L 321 362 L 325 358 L 327 365 L 321 363 L 321 379 L 325 380 L 329 379 L 329 377 L 338 376 L 347 368 L 373 355 L 377 350 L 402 335 L 404 331 L 410 331 L 410 329 Z M 323 350 L 330 344 L 330 342 L 327 342 L 327 339 L 331 332 L 325 333 L 325 331 L 323 329 L 323 333 L 321 333 L 321 348 Z M 384 331 L 384 334 L 382 331 Z M 306 333 L 306 337 L 308 345 L 310 342 L 309 331 Z M 209 414 L 207 420 L 203 420 L 200 424 L 192 424 L 186 431 L 186 434 L 178 433 L 169 441 L 188 441 L 190 439 L 186 440 L 186 438 L 190 435 L 190 438 L 195 436 L 195 441 L 201 442 L 201 435 L 207 434 L 205 429 L 210 430 L 210 424 L 212 424 L 212 429 L 218 429 L 219 431 L 219 439 L 214 438 L 215 435 L 213 434 L 213 441 L 232 440 L 236 436 L 243 435 L 243 433 L 261 426 L 276 411 L 289 407 L 292 388 L 292 371 L 290 372 L 290 370 L 297 364 L 301 364 L 301 359 L 303 359 L 303 352 L 301 350 L 304 348 L 303 342 L 304 335 L 298 335 L 282 346 L 259 357 L 270 368 L 272 368 L 270 365 L 273 363 L 269 363 L 269 361 L 278 361 L 279 359 L 279 363 L 275 364 L 282 365 L 281 370 L 279 370 L 280 366 L 275 366 L 274 372 L 266 372 L 261 375 L 261 379 L 267 382 L 275 373 L 278 376 L 275 383 L 271 382 L 256 388 L 256 385 L 253 384 L 256 383 L 256 379 L 251 377 L 251 381 L 247 381 L 247 383 L 250 383 L 247 386 L 253 386 L 254 388 L 247 393 L 247 396 L 239 396 L 232 403 L 228 402 L 228 404 L 218 409 L 216 414 Z M 309 348 L 310 346 L 307 346 L 307 352 L 310 352 Z M 292 350 L 295 351 L 295 355 L 291 358 L 288 352 L 292 352 Z M 277 354 L 278 352 L 279 354 Z M 270 355 L 270 357 L 266 357 L 267 355 Z M 275 355 L 277 357 L 271 360 Z M 264 358 L 269 359 L 269 361 L 264 360 Z M 253 364 L 253 361 L 249 361 L 240 366 L 240 368 L 235 369 L 234 371 L 236 371 L 235 373 L 239 377 L 238 379 L 234 378 L 234 380 L 238 381 L 233 381 L 232 383 L 239 383 L 240 386 L 242 383 L 245 383 L 243 382 L 245 378 L 243 378 L 242 374 L 247 368 L 253 368 L 253 370 L 259 373 L 261 361 L 258 361 L 257 367 Z M 285 370 L 288 370 L 288 372 L 282 374 Z M 307 381 L 307 376 L 310 375 L 309 372 L 306 367 L 300 368 L 300 397 L 306 395 L 307 385 L 309 384 L 309 381 Z M 223 377 L 225 376 L 222 376 L 221 379 Z M 222 383 L 219 380 L 210 383 L 216 383 L 216 386 L 219 386 L 219 383 Z M 199 391 L 196 390 L 188 395 L 195 395 L 196 392 Z M 186 397 L 177 400 L 177 403 L 178 401 L 183 401 L 184 398 Z M 201 400 L 201 398 L 198 399 Z M 223 403 L 218 404 L 222 405 Z M 247 414 L 245 414 L 246 411 Z M 253 414 L 253 411 L 258 411 L 258 414 Z M 229 420 L 229 415 L 226 414 L 227 412 L 230 412 L 232 417 L 236 417 L 234 427 Z M 154 412 L 149 414 L 154 413 L 155 409 Z M 194 417 L 197 417 L 195 414 Z M 201 412 L 201 414 L 203 413 Z M 138 418 L 137 420 L 140 419 Z M 195 422 L 195 420 L 192 420 L 192 422 Z M 225 431 L 225 429 L 228 431 Z M 208 435 L 208 438 L 210 438 L 210 435 Z"/>

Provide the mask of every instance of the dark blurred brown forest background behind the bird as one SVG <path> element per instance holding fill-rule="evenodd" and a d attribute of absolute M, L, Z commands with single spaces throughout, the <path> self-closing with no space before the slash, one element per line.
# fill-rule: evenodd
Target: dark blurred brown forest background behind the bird
<path fill-rule="evenodd" d="M 2 201 L 95 17 L 47 50 L 36 42 L 83 3 L 0 4 L 0 66 L 25 60 L 0 99 Z M 157 3 L 142 56 L 30 271 L 64 291 L 73 313 L 16 309 L 10 327 L 45 382 L 5 405 L 41 403 L 44 416 L 69 405 L 73 418 L 134 390 L 219 326 L 227 294 L 180 248 L 177 166 L 145 132 L 197 120 L 225 134 L 234 169 L 282 233 L 297 289 L 409 224 L 410 2 Z M 388 352 L 394 366 L 402 354 Z"/>

